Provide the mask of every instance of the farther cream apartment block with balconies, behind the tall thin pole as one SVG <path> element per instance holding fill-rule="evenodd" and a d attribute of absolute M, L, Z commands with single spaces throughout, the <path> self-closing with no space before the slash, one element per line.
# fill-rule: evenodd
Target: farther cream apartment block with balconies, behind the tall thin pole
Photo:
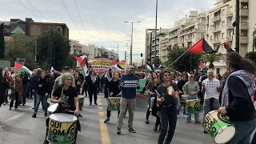
<path fill-rule="evenodd" d="M 203 38 L 205 34 L 206 13 L 190 11 L 189 18 L 182 18 L 174 26 L 166 30 L 166 36 L 160 37 L 160 59 L 168 60 L 168 52 L 173 47 L 190 47 Z"/>

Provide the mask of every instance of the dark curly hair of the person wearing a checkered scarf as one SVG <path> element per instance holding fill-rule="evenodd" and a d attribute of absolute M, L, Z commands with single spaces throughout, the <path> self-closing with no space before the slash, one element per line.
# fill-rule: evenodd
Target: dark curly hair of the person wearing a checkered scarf
<path fill-rule="evenodd" d="M 242 58 L 236 52 L 226 54 L 226 64 L 229 64 L 234 70 L 246 70 L 251 74 L 256 74 L 256 66 L 250 59 Z"/>

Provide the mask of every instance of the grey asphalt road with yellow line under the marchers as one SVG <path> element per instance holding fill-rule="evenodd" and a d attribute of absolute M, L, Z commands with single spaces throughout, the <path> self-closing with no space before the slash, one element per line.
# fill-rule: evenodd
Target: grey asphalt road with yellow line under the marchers
<path fill-rule="evenodd" d="M 9 110 L 9 105 L 0 108 L 0 144 L 42 144 L 46 134 L 42 108 L 39 106 L 37 118 L 32 118 L 34 100 L 27 100 L 26 106 L 18 110 Z M 154 132 L 155 118 L 150 116 L 150 124 L 145 123 L 147 100 L 138 95 L 135 113 L 134 130 L 128 132 L 124 119 L 122 135 L 116 134 L 117 112 L 112 112 L 110 122 L 104 124 L 106 118 L 106 99 L 98 95 L 98 106 L 89 106 L 89 98 L 85 98 L 83 118 L 79 118 L 82 132 L 78 133 L 78 144 L 156 144 L 159 132 Z M 128 115 L 128 114 L 127 114 Z M 202 117 L 201 117 L 202 118 Z M 178 118 L 173 144 L 214 144 L 209 134 L 203 134 L 201 124 L 186 123 L 185 118 Z"/>

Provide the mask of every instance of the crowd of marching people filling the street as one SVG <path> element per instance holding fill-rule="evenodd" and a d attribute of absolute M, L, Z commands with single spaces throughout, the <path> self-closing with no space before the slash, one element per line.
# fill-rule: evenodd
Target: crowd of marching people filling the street
<path fill-rule="evenodd" d="M 226 55 L 226 64 L 227 72 L 222 76 L 220 74 L 214 76 L 212 69 L 207 70 L 206 74 L 205 71 L 200 71 L 198 74 L 186 72 L 174 74 L 168 70 L 162 70 L 160 74 L 154 71 L 135 74 L 134 66 L 128 66 L 126 74 L 121 75 L 118 71 L 109 69 L 102 74 L 90 71 L 90 75 L 84 78 L 78 70 L 72 71 L 68 66 L 65 66 L 61 73 L 58 71 L 50 73 L 38 68 L 31 76 L 26 72 L 14 73 L 6 68 L 0 74 L 0 106 L 6 105 L 10 98 L 10 110 L 13 106 L 17 110 L 18 106 L 26 105 L 26 98 L 34 98 L 32 117 L 36 118 L 40 103 L 47 116 L 49 103 L 64 102 L 60 95 L 65 93 L 74 97 L 74 100 L 67 101 L 69 108 L 72 107 L 74 114 L 82 117 L 79 114 L 82 109 L 78 110 L 75 97 L 78 97 L 78 94 L 88 95 L 90 105 L 93 102 L 94 105 L 98 105 L 97 96 L 103 93 L 105 98 L 121 97 L 117 134 L 121 134 L 122 121 L 127 110 L 129 131 L 136 133 L 133 128 L 136 89 L 140 88 L 138 80 L 145 78 L 146 85 L 142 94 L 145 91 L 149 94 L 145 122 L 150 123 L 150 114 L 156 117 L 153 130 L 160 130 L 158 144 L 170 144 L 181 110 L 186 123 L 191 122 L 191 114 L 186 107 L 186 101 L 190 100 L 198 100 L 202 104 L 203 118 L 213 110 L 217 110 L 222 117 L 229 118 L 236 130 L 234 138 L 229 141 L 230 144 L 250 144 L 250 137 L 253 137 L 256 127 L 254 107 L 256 66 L 233 51 Z M 127 87 L 126 81 L 138 83 L 136 86 Z M 66 89 L 65 86 L 68 88 Z M 70 86 L 74 88 L 71 90 Z M 111 111 L 106 110 L 105 122 L 110 121 L 110 115 Z M 194 114 L 195 123 L 202 121 L 199 114 Z M 206 129 L 203 132 L 209 133 Z M 251 144 L 256 143 L 255 135 Z"/>

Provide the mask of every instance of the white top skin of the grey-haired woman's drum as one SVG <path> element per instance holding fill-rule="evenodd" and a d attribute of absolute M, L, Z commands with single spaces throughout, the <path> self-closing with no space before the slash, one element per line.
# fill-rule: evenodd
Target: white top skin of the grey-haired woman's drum
<path fill-rule="evenodd" d="M 58 122 L 74 122 L 78 120 L 74 115 L 63 113 L 51 114 L 50 119 Z"/>

